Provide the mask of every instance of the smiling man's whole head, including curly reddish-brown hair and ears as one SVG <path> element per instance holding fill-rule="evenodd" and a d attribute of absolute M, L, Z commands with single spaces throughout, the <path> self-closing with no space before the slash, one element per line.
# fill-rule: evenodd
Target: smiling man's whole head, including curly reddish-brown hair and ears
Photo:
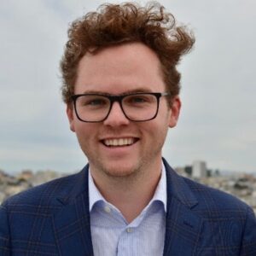
<path fill-rule="evenodd" d="M 89 160 L 93 177 L 98 181 L 103 177 L 136 177 L 137 173 L 159 177 L 161 148 L 168 128 L 177 124 L 180 109 L 176 65 L 181 55 L 191 49 L 194 38 L 184 27 L 177 27 L 173 16 L 158 3 L 145 8 L 135 3 L 102 5 L 98 12 L 74 21 L 68 35 L 61 61 L 62 95 L 70 128 Z M 83 122 L 73 108 L 73 95 L 96 93 L 117 99 L 138 91 L 169 93 L 168 97 L 160 97 L 154 118 L 143 112 L 143 119 L 153 119 L 132 120 L 142 113 L 141 102 L 148 102 L 139 96 L 127 103 L 133 109 L 131 119 L 117 101 L 100 122 Z M 85 115 L 93 109 L 102 117 L 102 107 L 109 106 L 98 96 L 93 102 L 84 102 L 80 109 L 86 109 Z M 150 102 L 146 106 L 157 105 Z M 95 113 L 90 119 L 95 118 Z"/>

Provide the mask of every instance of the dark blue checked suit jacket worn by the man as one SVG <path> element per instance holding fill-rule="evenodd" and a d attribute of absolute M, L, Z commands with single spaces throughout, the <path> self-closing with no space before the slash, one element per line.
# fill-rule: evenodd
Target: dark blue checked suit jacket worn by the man
<path fill-rule="evenodd" d="M 235 197 L 178 176 L 166 163 L 164 255 L 256 255 L 256 219 Z M 0 207 L 0 255 L 93 255 L 88 166 Z M 159 256 L 159 255 L 153 255 Z"/>

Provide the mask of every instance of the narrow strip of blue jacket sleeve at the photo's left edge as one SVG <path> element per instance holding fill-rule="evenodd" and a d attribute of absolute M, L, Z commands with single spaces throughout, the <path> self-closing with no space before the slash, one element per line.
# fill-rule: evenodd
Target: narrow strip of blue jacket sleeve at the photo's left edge
<path fill-rule="evenodd" d="M 10 256 L 10 234 L 7 209 L 0 205 L 0 255 Z"/>

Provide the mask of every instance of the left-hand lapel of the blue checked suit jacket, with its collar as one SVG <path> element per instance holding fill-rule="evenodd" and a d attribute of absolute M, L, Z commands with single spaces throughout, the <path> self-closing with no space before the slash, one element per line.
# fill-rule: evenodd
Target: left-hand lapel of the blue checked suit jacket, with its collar
<path fill-rule="evenodd" d="M 73 190 L 57 200 L 63 207 L 53 217 L 55 239 L 61 256 L 93 255 L 90 236 L 88 166 L 79 173 Z"/>

